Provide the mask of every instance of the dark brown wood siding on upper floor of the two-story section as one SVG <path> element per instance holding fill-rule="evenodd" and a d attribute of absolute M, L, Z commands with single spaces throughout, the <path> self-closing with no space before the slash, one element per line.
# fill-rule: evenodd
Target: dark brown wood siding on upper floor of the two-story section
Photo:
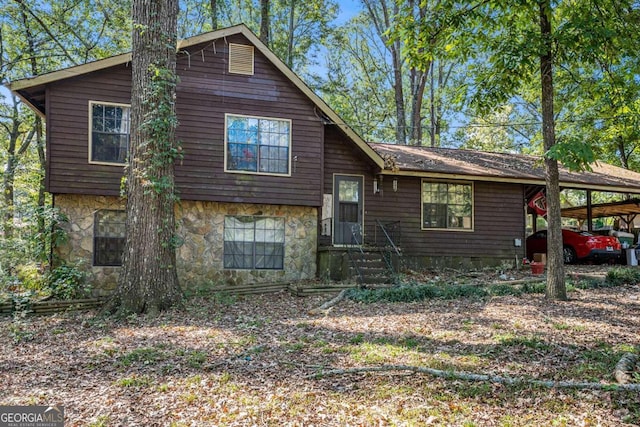
<path fill-rule="evenodd" d="M 178 55 L 177 136 L 184 159 L 176 183 L 185 200 L 320 206 L 324 126 L 314 104 L 255 51 L 252 76 L 228 73 L 228 43 L 192 46 Z M 129 103 L 127 65 L 50 85 L 47 125 L 53 193 L 117 195 L 123 168 L 88 163 L 89 101 Z M 291 176 L 224 172 L 225 113 L 290 119 Z"/>

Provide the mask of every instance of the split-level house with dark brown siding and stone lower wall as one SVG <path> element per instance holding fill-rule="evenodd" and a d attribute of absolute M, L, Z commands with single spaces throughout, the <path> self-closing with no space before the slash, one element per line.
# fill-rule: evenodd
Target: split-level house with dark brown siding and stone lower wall
<path fill-rule="evenodd" d="M 183 284 L 343 278 L 347 250 L 381 242 L 409 265 L 524 256 L 536 159 L 362 140 L 244 25 L 178 44 L 178 274 Z M 47 123 L 46 187 L 69 218 L 55 250 L 101 292 L 117 283 L 131 54 L 15 81 Z M 563 186 L 640 193 L 607 165 Z"/>

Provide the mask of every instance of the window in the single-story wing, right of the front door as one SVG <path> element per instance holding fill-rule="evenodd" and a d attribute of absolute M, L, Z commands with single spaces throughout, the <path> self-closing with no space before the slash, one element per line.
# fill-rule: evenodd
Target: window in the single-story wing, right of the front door
<path fill-rule="evenodd" d="M 422 228 L 473 229 L 473 184 L 422 182 Z"/>

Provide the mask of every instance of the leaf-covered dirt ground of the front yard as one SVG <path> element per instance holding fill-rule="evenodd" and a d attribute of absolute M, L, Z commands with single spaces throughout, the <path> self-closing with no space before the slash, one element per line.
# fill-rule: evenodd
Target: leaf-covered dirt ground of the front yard
<path fill-rule="evenodd" d="M 456 280 L 456 272 L 440 274 Z M 573 275 L 602 275 L 581 266 Z M 439 276 L 439 277 L 440 277 Z M 506 277 L 505 277 L 506 276 Z M 510 280 L 484 272 L 459 280 Z M 193 297 L 184 311 L 0 318 L 0 404 L 62 405 L 67 426 L 620 426 L 640 393 L 441 379 L 388 365 L 614 383 L 640 345 L 640 286 L 414 303 Z"/>

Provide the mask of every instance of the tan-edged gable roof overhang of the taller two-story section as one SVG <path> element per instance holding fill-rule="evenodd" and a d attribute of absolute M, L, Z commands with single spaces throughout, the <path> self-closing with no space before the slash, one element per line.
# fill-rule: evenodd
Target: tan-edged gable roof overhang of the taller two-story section
<path fill-rule="evenodd" d="M 380 168 L 384 161 L 371 147 L 333 111 L 318 95 L 316 95 L 306 83 L 300 79 L 284 62 L 282 62 L 253 32 L 244 24 L 223 28 L 216 31 L 200 34 L 178 41 L 177 51 L 200 43 L 207 43 L 224 37 L 241 34 L 246 37 L 279 71 L 281 71 L 302 93 L 304 93 L 315 106 L 336 124 L 355 144 Z M 77 65 L 63 70 L 54 71 L 39 76 L 16 80 L 8 85 L 8 88 L 16 93 L 32 110 L 44 117 L 44 88 L 46 84 L 71 77 L 81 76 L 93 71 L 122 65 L 131 62 L 131 52 L 112 56 L 83 65 Z M 339 124 L 338 124 L 339 123 Z"/>

